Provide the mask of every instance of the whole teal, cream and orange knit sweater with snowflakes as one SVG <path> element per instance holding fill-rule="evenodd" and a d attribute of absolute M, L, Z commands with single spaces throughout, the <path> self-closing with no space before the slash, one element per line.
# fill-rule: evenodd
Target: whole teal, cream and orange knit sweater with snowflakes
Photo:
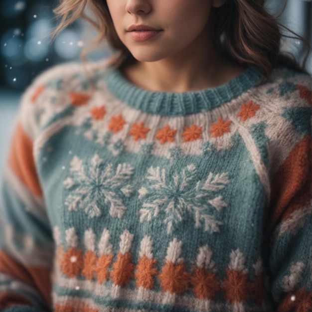
<path fill-rule="evenodd" d="M 39 76 L 4 173 L 0 309 L 312 311 L 312 79 L 262 78 Z"/>

